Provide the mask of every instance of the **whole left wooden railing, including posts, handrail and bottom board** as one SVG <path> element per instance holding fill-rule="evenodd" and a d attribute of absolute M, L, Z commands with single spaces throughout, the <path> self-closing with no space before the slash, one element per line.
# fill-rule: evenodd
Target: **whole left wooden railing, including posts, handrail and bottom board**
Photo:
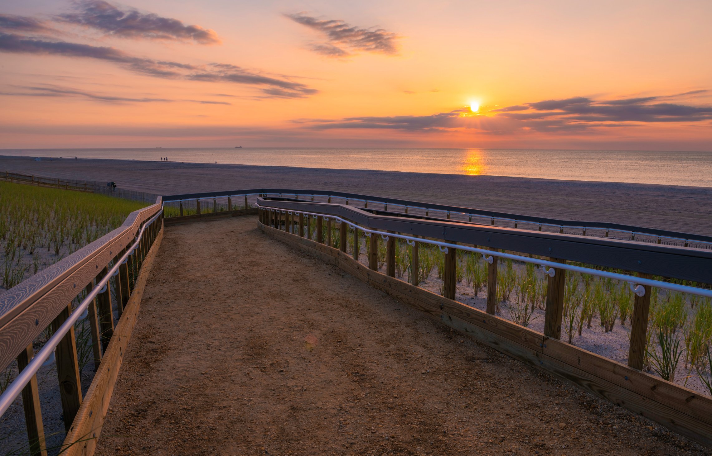
<path fill-rule="evenodd" d="M 115 381 L 120 354 L 135 321 L 135 308 L 145 282 L 147 255 L 162 234 L 162 201 L 130 213 L 126 221 L 111 233 L 95 240 L 66 259 L 0 295 L 0 369 L 17 359 L 19 377 L 1 396 L 14 400 L 14 389 L 22 388 L 23 409 L 32 455 L 46 455 L 38 385 L 33 374 L 20 382 L 23 371 L 36 372 L 51 354 L 55 357 L 59 392 L 67 438 L 63 454 L 80 454 L 95 444 L 96 426 L 100 426 Z M 135 241 L 137 235 L 139 240 Z M 132 253 L 127 253 L 127 250 Z M 152 251 L 155 252 L 155 249 Z M 126 256 L 125 262 L 120 262 Z M 115 276 L 105 277 L 115 270 Z M 100 282 L 105 287 L 97 290 Z M 113 283 L 111 283 L 113 282 Z M 112 286 L 113 285 L 113 286 Z M 112 295 L 111 290 L 115 290 Z M 73 321 L 72 302 L 83 293 L 91 326 L 94 363 L 97 371 L 85 398 L 80 388 L 80 372 Z M 90 299 L 95 295 L 95 299 Z M 114 299 L 112 299 L 112 297 Z M 115 319 L 117 312 L 118 319 Z M 133 319 L 133 320 L 132 320 Z M 72 320 L 71 322 L 69 320 Z M 122 327 L 119 331 L 116 329 Z M 35 355 L 33 340 L 47 328 L 61 335 Z M 66 329 L 69 327 L 69 329 Z M 43 359 L 33 359 L 35 356 Z M 0 410 L 0 414 L 6 408 Z"/>

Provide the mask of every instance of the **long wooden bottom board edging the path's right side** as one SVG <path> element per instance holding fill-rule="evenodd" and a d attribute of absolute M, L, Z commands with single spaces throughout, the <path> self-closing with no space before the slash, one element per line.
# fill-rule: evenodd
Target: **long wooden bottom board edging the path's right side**
<path fill-rule="evenodd" d="M 712 446 L 712 398 L 370 270 L 334 248 L 260 228 L 504 354 Z"/>

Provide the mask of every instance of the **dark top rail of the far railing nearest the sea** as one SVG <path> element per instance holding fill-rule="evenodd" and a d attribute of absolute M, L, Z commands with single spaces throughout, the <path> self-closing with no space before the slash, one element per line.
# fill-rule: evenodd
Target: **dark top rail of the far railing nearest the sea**
<path fill-rule="evenodd" d="M 341 194 L 337 194 L 341 193 Z M 201 194 L 204 194 L 205 196 L 200 196 Z M 422 206 L 423 203 L 417 203 L 414 201 L 415 204 L 406 204 L 406 203 L 399 203 L 399 202 L 389 202 L 385 201 L 385 199 L 372 199 L 372 197 L 368 198 L 360 198 L 359 196 L 351 196 L 351 193 L 344 193 L 344 192 L 336 192 L 336 193 L 331 193 L 329 191 L 308 191 L 308 193 L 301 193 L 300 191 L 289 191 L 289 190 L 275 190 L 275 189 L 251 189 L 251 190 L 246 190 L 246 191 L 230 191 L 230 192 L 209 192 L 209 193 L 187 193 L 184 195 L 174 195 L 174 196 L 169 196 L 169 198 L 172 199 L 164 199 L 164 203 L 175 203 L 179 201 L 189 201 L 192 199 L 202 199 L 202 198 L 225 198 L 228 196 L 279 196 L 280 198 L 286 198 L 290 195 L 294 195 L 295 198 L 299 198 L 300 196 L 328 196 L 330 198 L 342 198 L 347 201 L 362 201 L 365 205 L 367 203 L 379 203 L 383 204 L 384 206 L 398 206 L 402 208 L 416 208 L 416 209 L 422 209 L 424 211 L 429 212 L 429 211 L 438 211 L 441 213 L 450 213 L 450 214 L 460 214 L 462 216 L 468 216 L 469 219 L 471 220 L 472 217 L 481 217 L 481 218 L 487 218 L 492 221 L 508 221 L 508 222 L 514 222 L 514 223 L 535 223 L 538 224 L 540 227 L 552 227 L 552 228 L 577 228 L 581 230 L 586 230 L 587 228 L 591 230 L 606 230 L 607 232 L 616 232 L 616 233 L 627 233 L 631 236 L 635 235 L 644 235 L 644 236 L 650 236 L 653 238 L 659 238 L 659 240 L 674 240 L 674 241 L 681 241 L 685 243 L 685 247 L 687 247 L 688 243 L 695 243 L 695 244 L 701 244 L 701 245 L 706 245 L 708 247 L 712 248 L 712 240 L 703 240 L 703 238 L 708 238 L 708 236 L 701 236 L 701 235 L 687 235 L 687 233 L 677 233 L 673 232 L 675 235 L 670 234 L 665 234 L 664 232 L 666 230 L 656 230 L 653 228 L 643 228 L 643 227 L 630 227 L 630 228 L 638 228 L 638 229 L 623 229 L 623 228 L 614 228 L 610 226 L 600 226 L 602 225 L 601 222 L 590 222 L 590 223 L 582 223 L 582 224 L 570 224 L 566 223 L 567 221 L 560 221 L 560 223 L 552 223 L 552 219 L 547 219 L 544 217 L 533 217 L 533 216 L 515 216 L 513 214 L 508 214 L 508 217 L 505 216 L 499 216 L 499 215 L 493 215 L 489 214 L 491 211 L 478 211 L 476 209 L 473 209 L 473 211 L 463 211 L 462 209 L 464 208 L 457 208 L 456 206 L 452 206 L 451 208 L 444 208 L 444 207 L 432 207 L 432 206 L 442 206 L 439 204 L 433 204 L 431 206 Z M 403 200 L 399 200 L 403 201 Z M 515 218 L 516 217 L 516 218 Z M 605 224 L 604 224 L 605 225 Z M 612 224 L 614 225 L 614 224 Z M 686 236 L 686 237 L 679 237 L 679 236 Z"/>

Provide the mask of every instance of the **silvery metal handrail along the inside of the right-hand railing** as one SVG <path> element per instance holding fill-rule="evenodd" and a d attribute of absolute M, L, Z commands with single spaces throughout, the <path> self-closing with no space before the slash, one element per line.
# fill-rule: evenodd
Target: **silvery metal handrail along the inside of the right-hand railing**
<path fill-rule="evenodd" d="M 545 267 L 553 267 L 555 269 L 563 269 L 563 270 L 568 270 L 572 272 L 581 272 L 582 274 L 590 274 L 590 275 L 596 275 L 598 277 L 606 277 L 614 280 L 623 280 L 625 282 L 628 282 L 630 285 L 632 285 L 631 289 L 633 292 L 635 292 L 638 296 L 643 296 L 644 295 L 644 289 L 638 288 L 637 285 L 649 285 L 651 287 L 656 287 L 656 288 L 663 288 L 665 290 L 671 290 L 671 291 L 676 291 L 676 292 L 683 292 L 683 293 L 689 293 L 691 295 L 698 295 L 698 296 L 703 296 L 703 297 L 710 297 L 712 298 L 712 290 L 704 290 L 703 288 L 698 288 L 698 287 L 689 287 L 687 285 L 678 285 L 674 283 L 669 283 L 669 282 L 662 282 L 661 280 L 653 280 L 653 279 L 646 279 L 644 277 L 635 277 L 633 275 L 626 275 L 626 274 L 619 274 L 617 272 L 607 272 L 607 271 L 602 271 L 602 270 L 597 270 L 593 269 L 591 267 L 582 267 L 582 266 L 575 266 L 575 265 L 568 265 L 565 263 L 556 263 L 554 261 L 549 261 L 549 260 L 539 260 L 536 258 L 530 258 L 530 257 L 525 257 L 522 255 L 514 255 L 512 253 L 502 253 L 502 252 L 497 252 L 496 250 L 488 250 L 484 248 L 476 248 L 476 247 L 469 247 L 468 245 L 459 245 L 459 244 L 453 244 L 453 243 L 447 243 L 444 241 L 439 241 L 439 240 L 431 240 L 431 239 L 426 239 L 426 238 L 414 238 L 409 235 L 403 235 L 403 234 L 397 234 L 397 233 L 384 233 L 383 231 L 378 231 L 378 230 L 371 230 L 369 228 L 363 228 L 362 226 L 359 226 L 357 223 L 353 223 L 352 221 L 349 221 L 345 218 L 341 218 L 339 216 L 332 216 L 332 215 L 325 215 L 323 213 L 315 213 L 315 212 L 308 212 L 308 211 L 298 211 L 296 209 L 282 209 L 282 208 L 276 208 L 272 206 L 262 206 L 260 203 L 256 203 L 258 208 L 263 208 L 263 209 L 269 209 L 272 211 L 279 211 L 281 213 L 297 213 L 297 214 L 303 214 L 303 215 L 308 215 L 308 216 L 316 216 L 316 217 L 323 217 L 325 219 L 333 219 L 336 221 L 341 221 L 343 223 L 346 223 L 347 225 L 351 226 L 352 228 L 356 228 L 358 230 L 362 230 L 363 232 L 367 233 L 367 236 L 370 235 L 381 235 L 381 236 L 387 236 L 387 237 L 394 237 L 394 238 L 399 238 L 406 240 L 407 243 L 410 244 L 410 242 L 419 242 L 419 243 L 426 243 L 426 244 L 431 244 L 431 245 L 436 245 L 439 248 L 442 249 L 448 249 L 448 248 L 454 248 L 458 250 L 466 250 L 468 252 L 472 253 L 481 253 L 482 255 L 489 255 L 491 257 L 499 257 L 499 258 L 509 258 L 511 260 L 516 260 L 516 261 L 521 261 L 523 263 L 532 263 L 535 265 L 540 265 Z M 447 253 L 447 250 L 443 250 L 445 253 Z M 486 258 L 486 256 L 485 256 Z M 486 261 L 490 261 L 489 258 L 486 258 Z M 553 277 L 551 275 L 550 270 L 546 271 L 548 275 Z M 642 289 L 643 294 L 640 294 Z"/>

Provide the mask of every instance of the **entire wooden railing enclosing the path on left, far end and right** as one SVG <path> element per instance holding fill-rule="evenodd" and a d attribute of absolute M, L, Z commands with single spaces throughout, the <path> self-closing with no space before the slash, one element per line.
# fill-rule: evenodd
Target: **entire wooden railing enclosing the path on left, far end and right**
<path fill-rule="evenodd" d="M 95 290 L 94 284 L 104 279 L 126 249 L 131 247 L 137 233 L 145 227 L 146 235 L 135 250 L 136 255 L 120 265 L 116 277 L 110 279 L 115 281 L 113 288 L 117 290 L 117 302 L 112 302 L 108 291 L 110 287 L 107 287 L 107 290 L 100 290 L 95 302 L 89 304 L 94 358 L 98 369 L 85 398 L 82 398 L 79 388 L 74 335 L 63 336 L 57 346 L 56 366 L 67 430 L 66 452 L 90 453 L 95 445 L 116 380 L 117 366 L 135 322 L 147 274 L 147 268 L 142 265 L 150 264 L 147 258 L 155 255 L 162 235 L 164 213 L 172 210 L 177 219 L 180 216 L 186 219 L 189 201 L 196 203 L 194 216 L 198 218 L 221 213 L 258 213 L 258 225 L 267 233 L 337 264 L 355 277 L 449 327 L 712 446 L 712 398 L 639 370 L 642 368 L 648 330 L 650 296 L 650 281 L 646 282 L 644 277 L 657 275 L 701 284 L 711 283 L 712 252 L 705 250 L 706 245 L 712 243 L 711 237 L 613 223 L 518 216 L 355 193 L 249 189 L 159 197 L 156 204 L 130 214 L 125 223 L 112 233 L 0 295 L 0 368 L 17 359 L 22 370 L 33 362 L 33 339 L 46 327 L 61 327 L 70 318 L 71 302 L 75 297 L 83 290 Z M 360 207 L 353 206 L 354 203 Z M 224 211 L 219 211 L 219 204 L 225 204 Z M 209 213 L 206 213 L 206 208 Z M 315 235 L 305 231 L 310 229 L 306 228 L 310 226 L 308 223 L 305 225 L 305 220 L 312 217 L 310 214 L 318 214 L 318 234 Z M 336 218 L 340 220 L 341 250 L 331 247 L 331 230 L 328 230 L 326 237 L 321 236 L 321 228 L 331 228 Z M 150 225 L 147 222 L 151 222 Z M 345 252 L 347 225 L 344 223 L 360 227 L 354 231 L 356 236 L 361 229 L 382 233 L 387 238 L 379 240 L 379 235 L 372 235 L 367 253 L 368 265 L 357 260 L 357 250 L 352 255 Z M 574 228 L 582 229 L 582 232 L 570 233 Z M 634 241 L 605 235 L 614 230 L 630 233 L 627 237 L 634 238 Z M 308 237 L 305 236 L 307 234 Z M 445 255 L 442 296 L 424 290 L 417 283 L 394 277 L 394 240 L 399 235 L 407 236 L 409 242 L 414 243 L 412 254 L 415 263 L 418 262 L 417 246 L 420 243 L 433 240 L 449 245 Z M 669 242 L 660 242 L 660 239 Z M 647 242 L 639 242 L 641 240 Z M 385 273 L 379 272 L 377 267 L 379 242 L 386 243 Z M 666 245 L 673 242 L 678 245 Z M 488 266 L 490 286 L 486 312 L 455 300 L 454 265 L 458 251 L 467 249 L 487 253 L 492 260 Z M 511 253 L 539 258 L 540 264 L 545 263 L 554 269 L 553 277 L 548 278 L 545 329 L 542 333 L 494 314 L 496 297 L 491 290 L 496 290 L 496 265 L 499 258 Z M 522 258 L 525 259 L 524 256 Z M 567 264 L 572 262 L 612 267 L 638 275 L 629 278 L 642 284 L 646 292 L 635 299 L 629 365 L 604 359 L 559 340 L 564 295 L 562 287 Z M 665 286 L 664 283 L 661 285 Z M 119 315 L 117 326 L 112 307 Z M 33 377 L 23 387 L 31 453 L 43 454 L 43 426 L 36 379 Z"/>

